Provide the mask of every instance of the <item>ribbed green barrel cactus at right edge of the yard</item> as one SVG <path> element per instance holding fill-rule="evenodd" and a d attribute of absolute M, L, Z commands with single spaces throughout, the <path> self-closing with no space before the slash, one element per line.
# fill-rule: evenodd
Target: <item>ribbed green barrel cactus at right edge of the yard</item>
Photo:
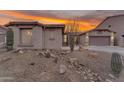
<path fill-rule="evenodd" d="M 118 53 L 112 53 L 111 57 L 111 69 L 114 74 L 119 74 L 122 70 L 121 55 Z"/>

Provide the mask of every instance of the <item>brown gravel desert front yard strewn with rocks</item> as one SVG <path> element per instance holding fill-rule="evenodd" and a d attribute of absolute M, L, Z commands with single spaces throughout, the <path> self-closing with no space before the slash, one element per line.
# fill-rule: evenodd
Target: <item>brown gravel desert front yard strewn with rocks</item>
<path fill-rule="evenodd" d="M 114 82 L 111 53 L 88 49 L 12 50 L 0 53 L 0 81 Z"/>

